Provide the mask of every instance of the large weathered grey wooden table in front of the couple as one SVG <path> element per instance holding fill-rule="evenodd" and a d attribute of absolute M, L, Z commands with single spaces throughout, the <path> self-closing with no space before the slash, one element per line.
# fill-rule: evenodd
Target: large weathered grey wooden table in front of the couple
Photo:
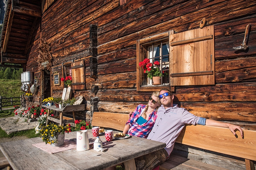
<path fill-rule="evenodd" d="M 90 143 L 96 139 L 92 136 L 91 129 L 88 129 L 88 136 Z M 76 141 L 76 132 L 66 133 L 65 138 Z M 134 158 L 160 150 L 166 146 L 162 142 L 134 136 L 128 139 L 113 139 L 112 142 L 106 142 L 103 134 L 100 135 L 100 139 L 106 143 L 103 148 L 108 148 L 104 152 L 97 152 L 93 149 L 81 152 L 74 148 L 50 154 L 32 145 L 42 142 L 39 137 L 0 143 L 0 149 L 14 170 L 100 170 L 123 162 L 126 170 L 134 170 L 136 169 Z"/>

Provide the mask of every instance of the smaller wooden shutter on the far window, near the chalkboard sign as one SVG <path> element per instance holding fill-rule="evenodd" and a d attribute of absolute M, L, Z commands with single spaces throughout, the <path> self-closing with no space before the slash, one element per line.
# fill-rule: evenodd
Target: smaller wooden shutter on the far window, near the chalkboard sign
<path fill-rule="evenodd" d="M 72 90 L 85 90 L 84 60 L 71 63 Z"/>

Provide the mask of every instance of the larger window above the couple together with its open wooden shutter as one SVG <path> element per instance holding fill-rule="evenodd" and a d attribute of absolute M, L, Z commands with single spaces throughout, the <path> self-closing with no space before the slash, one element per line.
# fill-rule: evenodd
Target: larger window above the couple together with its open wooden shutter
<path fill-rule="evenodd" d="M 139 62 L 145 58 L 159 61 L 168 75 L 154 86 Z M 174 30 L 137 40 L 137 91 L 156 91 L 175 86 L 215 84 L 214 26 L 180 33 Z"/>

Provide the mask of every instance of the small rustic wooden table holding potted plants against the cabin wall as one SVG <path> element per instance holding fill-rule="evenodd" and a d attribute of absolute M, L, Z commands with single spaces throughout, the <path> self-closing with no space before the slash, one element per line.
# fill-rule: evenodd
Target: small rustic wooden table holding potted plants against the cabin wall
<path fill-rule="evenodd" d="M 62 125 L 63 123 L 74 122 L 76 120 L 75 111 L 84 111 L 85 104 L 68 105 L 68 106 L 65 106 L 62 109 L 60 109 L 59 107 L 56 107 L 55 105 L 54 106 L 42 105 L 42 107 L 48 109 L 46 125 L 48 124 L 48 120 L 51 120 L 53 122 L 59 123 L 59 125 Z M 59 116 L 49 116 L 50 115 L 50 110 L 58 111 Z M 63 112 L 72 112 L 73 113 L 73 119 L 69 118 L 69 117 L 66 117 L 66 116 L 63 116 Z"/>

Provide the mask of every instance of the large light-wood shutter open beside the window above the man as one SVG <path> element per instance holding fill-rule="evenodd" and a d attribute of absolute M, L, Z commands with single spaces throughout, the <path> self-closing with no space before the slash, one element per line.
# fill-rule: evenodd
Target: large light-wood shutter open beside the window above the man
<path fill-rule="evenodd" d="M 214 26 L 169 37 L 171 86 L 215 84 Z"/>

